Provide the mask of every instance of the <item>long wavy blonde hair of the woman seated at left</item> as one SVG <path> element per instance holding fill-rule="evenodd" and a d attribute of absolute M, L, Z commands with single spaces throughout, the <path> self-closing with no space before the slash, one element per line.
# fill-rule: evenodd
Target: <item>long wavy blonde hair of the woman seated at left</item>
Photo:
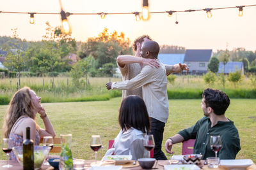
<path fill-rule="evenodd" d="M 20 117 L 26 116 L 35 120 L 35 106 L 31 99 L 30 90 L 29 87 L 23 87 L 13 95 L 4 117 L 3 134 L 5 138 L 9 137 L 13 125 Z"/>

